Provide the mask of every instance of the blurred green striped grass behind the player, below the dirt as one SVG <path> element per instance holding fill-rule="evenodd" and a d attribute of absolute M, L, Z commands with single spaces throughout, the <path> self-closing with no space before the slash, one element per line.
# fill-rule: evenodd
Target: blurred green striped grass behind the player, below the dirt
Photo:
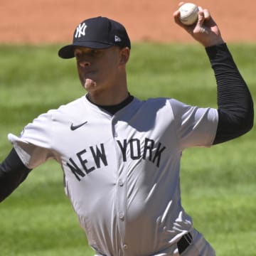
<path fill-rule="evenodd" d="M 38 114 L 80 97 L 75 60 L 59 46 L 0 46 L 0 160 Z M 256 97 L 256 46 L 229 46 Z M 127 65 L 129 91 L 140 99 L 175 97 L 216 107 L 213 71 L 199 45 L 137 43 Z M 217 255 L 256 255 L 255 128 L 210 149 L 187 149 L 181 163 L 183 207 Z M 33 170 L 0 204 L 1 256 L 90 256 L 86 237 L 63 191 L 54 161 Z"/>

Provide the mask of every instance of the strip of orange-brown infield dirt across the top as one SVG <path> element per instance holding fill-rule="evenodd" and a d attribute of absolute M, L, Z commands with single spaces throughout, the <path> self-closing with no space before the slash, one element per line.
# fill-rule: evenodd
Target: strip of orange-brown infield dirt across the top
<path fill-rule="evenodd" d="M 92 16 L 114 18 L 131 40 L 192 42 L 173 21 L 176 0 L 1 0 L 0 43 L 70 42 L 80 21 Z M 230 42 L 256 42 L 255 0 L 195 0 L 210 10 Z"/>

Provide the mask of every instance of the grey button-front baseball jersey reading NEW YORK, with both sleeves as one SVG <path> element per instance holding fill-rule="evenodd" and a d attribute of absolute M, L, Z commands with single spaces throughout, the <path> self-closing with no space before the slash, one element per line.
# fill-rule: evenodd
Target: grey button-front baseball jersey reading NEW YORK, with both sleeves
<path fill-rule="evenodd" d="M 99 255 L 175 255 L 192 220 L 181 206 L 183 149 L 211 146 L 212 108 L 134 100 L 112 115 L 85 96 L 41 114 L 9 140 L 31 169 L 60 163 L 88 242 Z"/>

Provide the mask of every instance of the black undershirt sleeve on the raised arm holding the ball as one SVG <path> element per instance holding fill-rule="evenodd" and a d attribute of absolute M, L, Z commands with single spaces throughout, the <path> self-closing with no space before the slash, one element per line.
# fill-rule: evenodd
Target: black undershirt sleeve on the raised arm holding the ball
<path fill-rule="evenodd" d="M 213 144 L 227 142 L 253 126 L 252 96 L 225 43 L 206 48 L 218 95 L 218 128 Z"/>

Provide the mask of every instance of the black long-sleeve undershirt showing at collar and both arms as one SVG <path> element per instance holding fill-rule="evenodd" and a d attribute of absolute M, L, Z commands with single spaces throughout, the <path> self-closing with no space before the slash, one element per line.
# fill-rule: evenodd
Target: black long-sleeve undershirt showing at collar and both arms
<path fill-rule="evenodd" d="M 253 102 L 250 91 L 235 65 L 225 43 L 206 48 L 217 82 L 218 128 L 213 144 L 227 142 L 250 131 L 253 126 Z M 129 95 L 114 106 L 99 106 L 114 114 L 133 100 Z M 0 202 L 28 176 L 28 169 L 15 149 L 0 164 Z"/>

